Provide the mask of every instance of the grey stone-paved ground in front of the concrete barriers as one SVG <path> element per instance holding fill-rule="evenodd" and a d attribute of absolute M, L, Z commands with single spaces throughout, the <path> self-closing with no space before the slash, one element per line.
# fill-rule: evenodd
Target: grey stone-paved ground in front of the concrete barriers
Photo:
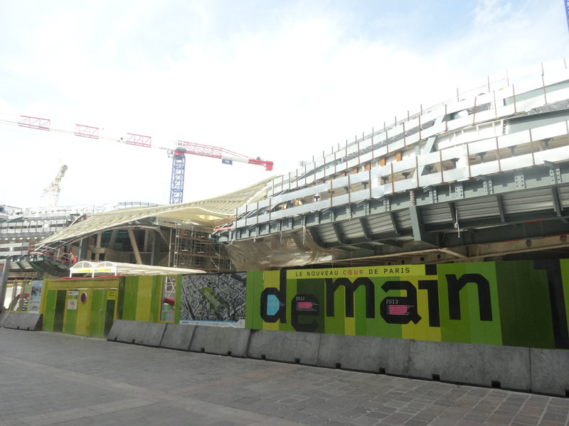
<path fill-rule="evenodd" d="M 0 329 L 0 426 L 568 425 L 569 399 Z"/>

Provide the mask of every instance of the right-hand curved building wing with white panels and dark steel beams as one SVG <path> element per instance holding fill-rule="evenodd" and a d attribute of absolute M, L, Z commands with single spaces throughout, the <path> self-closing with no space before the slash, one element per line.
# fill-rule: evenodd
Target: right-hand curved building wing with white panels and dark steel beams
<path fill-rule="evenodd" d="M 506 75 L 508 86 L 488 79 L 472 96 L 421 107 L 275 178 L 265 200 L 236 209 L 215 232 L 218 241 L 267 267 L 279 265 L 274 252 L 260 259 L 262 249 L 285 233 L 304 249 L 313 241 L 326 261 L 370 264 L 464 261 L 513 240 L 565 244 L 569 70 L 566 60 L 533 70 L 515 87 Z"/>

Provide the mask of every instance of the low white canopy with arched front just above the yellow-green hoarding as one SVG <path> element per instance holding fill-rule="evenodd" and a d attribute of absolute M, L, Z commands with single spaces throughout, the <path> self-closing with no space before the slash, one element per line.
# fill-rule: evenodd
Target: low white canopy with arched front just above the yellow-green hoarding
<path fill-rule="evenodd" d="M 95 276 L 108 275 L 178 275 L 204 273 L 199 269 L 166 268 L 164 266 L 135 265 L 119 262 L 88 262 L 75 263 L 69 270 L 69 276 L 90 274 Z"/>

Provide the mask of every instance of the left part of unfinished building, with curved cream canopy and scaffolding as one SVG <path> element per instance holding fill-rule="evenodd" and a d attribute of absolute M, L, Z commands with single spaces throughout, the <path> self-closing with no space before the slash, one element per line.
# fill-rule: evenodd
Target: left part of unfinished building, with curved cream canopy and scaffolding
<path fill-rule="evenodd" d="M 10 259 L 13 278 L 69 275 L 76 261 L 235 271 L 226 245 L 211 234 L 218 226 L 228 226 L 236 207 L 264 196 L 266 183 L 166 206 L 54 207 L 41 213 L 41 223 L 32 222 L 35 211 L 11 211 L 0 219 L 0 236 L 12 241 L 0 246 L 0 257 Z"/>

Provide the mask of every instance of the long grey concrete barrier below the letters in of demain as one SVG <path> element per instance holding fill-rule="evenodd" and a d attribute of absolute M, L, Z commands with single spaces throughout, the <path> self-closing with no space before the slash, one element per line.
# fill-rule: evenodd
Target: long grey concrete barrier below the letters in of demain
<path fill-rule="evenodd" d="M 529 348 L 412 340 L 409 376 L 530 391 Z"/>

